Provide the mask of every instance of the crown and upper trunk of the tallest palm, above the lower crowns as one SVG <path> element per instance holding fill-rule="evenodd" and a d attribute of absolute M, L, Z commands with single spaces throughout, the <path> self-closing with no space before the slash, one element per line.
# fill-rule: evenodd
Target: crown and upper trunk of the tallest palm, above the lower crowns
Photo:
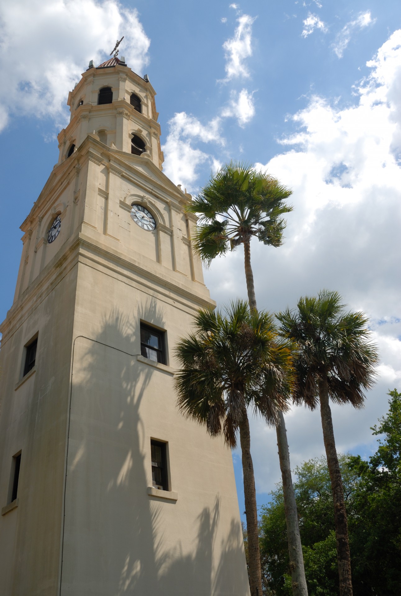
<path fill-rule="evenodd" d="M 292 211 L 284 203 L 292 194 L 266 172 L 249 164 L 230 162 L 211 177 L 187 210 L 199 216 L 195 250 L 209 266 L 212 260 L 243 244 L 249 307 L 256 309 L 254 276 L 251 268 L 251 238 L 281 246 L 285 220 Z"/>

